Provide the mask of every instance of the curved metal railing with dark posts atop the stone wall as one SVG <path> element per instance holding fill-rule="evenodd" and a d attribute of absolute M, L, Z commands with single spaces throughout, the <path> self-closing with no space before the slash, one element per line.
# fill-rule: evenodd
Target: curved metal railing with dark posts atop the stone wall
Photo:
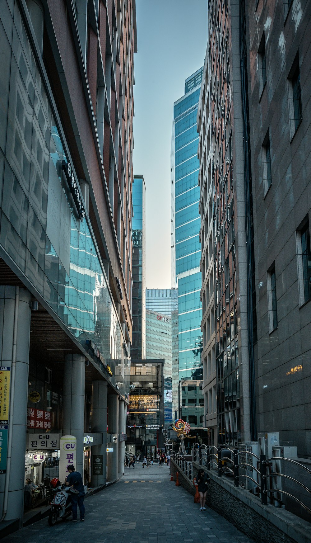
<path fill-rule="evenodd" d="M 226 456 L 223 456 L 223 453 Z M 255 458 L 256 462 L 250 463 L 250 457 Z M 208 447 L 199 443 L 195 443 L 193 446 L 192 459 L 193 462 L 205 466 L 208 470 L 216 470 L 219 477 L 224 473 L 233 476 L 234 487 L 239 487 L 241 479 L 251 480 L 254 483 L 254 488 L 258 489 L 258 498 L 260 497 L 261 502 L 265 505 L 269 502 L 278 507 L 284 506 L 282 496 L 287 496 L 311 515 L 311 510 L 306 504 L 308 503 L 307 498 L 311 498 L 311 470 L 296 460 L 278 456 L 266 458 L 265 454 L 257 456 L 250 451 L 247 453 L 237 449 L 232 451 L 227 447 L 224 450 L 224 447 L 215 447 L 214 445 Z M 301 470 L 299 471 L 299 479 L 304 480 L 303 483 L 301 480 L 283 473 L 284 463 L 287 462 L 295 466 L 296 472 L 297 469 Z M 252 476 L 249 475 L 250 472 Z M 283 490 L 283 480 L 290 481 L 291 488 L 296 485 L 297 494 L 300 497 L 305 497 L 305 500 L 302 501 L 294 494 Z M 256 493 L 254 494 L 256 495 Z"/>

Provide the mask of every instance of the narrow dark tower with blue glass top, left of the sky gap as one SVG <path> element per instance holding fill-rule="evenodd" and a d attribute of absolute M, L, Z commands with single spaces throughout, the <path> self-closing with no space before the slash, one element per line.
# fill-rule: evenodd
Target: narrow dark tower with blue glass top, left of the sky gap
<path fill-rule="evenodd" d="M 132 346 L 131 358 L 145 358 L 146 352 L 146 305 L 145 305 L 145 203 L 146 187 L 142 175 L 134 175 L 133 184 L 133 219 L 132 219 Z"/>

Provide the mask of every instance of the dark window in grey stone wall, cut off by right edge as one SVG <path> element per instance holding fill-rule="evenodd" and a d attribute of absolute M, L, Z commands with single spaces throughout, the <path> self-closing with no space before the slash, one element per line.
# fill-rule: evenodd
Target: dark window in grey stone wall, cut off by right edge
<path fill-rule="evenodd" d="M 311 298 L 311 249 L 308 218 L 297 231 L 298 276 L 300 283 L 300 304 Z"/>

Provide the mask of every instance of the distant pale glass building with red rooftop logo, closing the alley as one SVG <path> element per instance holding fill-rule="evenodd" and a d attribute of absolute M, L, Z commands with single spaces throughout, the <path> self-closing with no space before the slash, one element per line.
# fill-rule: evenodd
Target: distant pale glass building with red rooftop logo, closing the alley
<path fill-rule="evenodd" d="M 146 358 L 164 359 L 164 424 L 166 425 L 172 422 L 175 415 L 172 413 L 172 352 L 175 353 L 174 323 L 177 311 L 176 288 L 146 289 Z"/>

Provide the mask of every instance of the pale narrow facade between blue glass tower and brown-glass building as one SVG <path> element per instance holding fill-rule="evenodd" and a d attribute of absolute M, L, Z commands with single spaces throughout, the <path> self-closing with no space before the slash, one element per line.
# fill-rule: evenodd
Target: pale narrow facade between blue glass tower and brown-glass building
<path fill-rule="evenodd" d="M 200 161 L 200 241 L 202 257 L 200 269 L 202 273 L 202 323 L 203 335 L 203 394 L 204 419 L 203 426 L 208 429 L 208 444 L 218 443 L 217 435 L 217 380 L 215 353 L 215 306 L 214 306 L 214 236 L 213 236 L 213 184 L 211 153 L 211 116 L 210 116 L 210 79 L 209 79 L 209 46 L 207 46 L 204 73 L 197 116 L 199 133 L 198 157 Z M 187 397 L 182 399 L 187 401 Z M 201 397 L 189 399 L 195 405 L 202 402 Z M 189 411 L 190 414 L 190 411 Z"/>

